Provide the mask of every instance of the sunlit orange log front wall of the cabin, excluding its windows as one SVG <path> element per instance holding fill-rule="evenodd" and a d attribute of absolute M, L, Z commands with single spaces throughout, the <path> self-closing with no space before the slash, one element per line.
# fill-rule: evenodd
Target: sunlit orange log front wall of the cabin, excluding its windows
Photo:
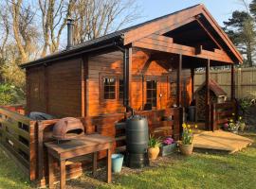
<path fill-rule="evenodd" d="M 120 97 L 122 90 L 119 88 L 120 80 L 122 80 L 123 77 L 122 59 L 123 54 L 120 51 L 104 53 L 97 56 L 88 56 L 87 106 L 85 106 L 87 116 L 125 111 L 122 98 Z M 102 96 L 102 81 L 105 77 L 114 77 L 117 79 L 115 99 L 105 100 Z M 174 85 L 171 85 L 171 83 L 176 83 L 175 70 L 168 73 L 166 65 L 163 65 L 162 62 L 157 60 L 151 60 L 149 53 L 135 48 L 133 49 L 130 103 L 136 111 L 143 111 L 147 102 L 147 80 L 155 80 L 157 82 L 156 110 L 166 109 L 175 104 L 176 95 L 174 92 L 176 89 Z M 182 83 L 186 85 L 185 88 L 181 88 L 182 91 L 185 90 L 184 93 L 186 93 L 186 103 L 183 102 L 185 100 L 184 97 L 182 97 L 182 104 L 189 106 L 192 96 L 190 70 L 182 71 Z"/>

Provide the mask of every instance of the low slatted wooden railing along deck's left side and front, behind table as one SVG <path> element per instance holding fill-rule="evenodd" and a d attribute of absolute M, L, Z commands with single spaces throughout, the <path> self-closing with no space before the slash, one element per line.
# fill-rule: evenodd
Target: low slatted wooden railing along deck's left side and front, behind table
<path fill-rule="evenodd" d="M 165 134 L 179 138 L 182 124 L 182 108 L 174 108 L 161 111 L 137 112 L 149 120 L 150 130 L 158 129 Z M 105 136 L 116 138 L 113 150 L 119 146 L 117 139 L 116 124 L 123 122 L 129 114 L 115 113 L 94 117 L 83 117 L 82 120 L 87 134 L 95 131 Z M 172 119 L 165 121 L 165 117 Z M 12 158 L 26 172 L 30 180 L 37 180 L 39 186 L 46 185 L 47 180 L 47 157 L 44 143 L 52 141 L 52 129 L 56 120 L 32 121 L 17 112 L 10 112 L 0 108 L 0 144 L 12 154 Z M 122 139 L 125 139 L 122 137 Z M 123 145 L 123 144 L 122 144 Z M 105 152 L 99 154 L 103 158 Z M 66 167 L 67 178 L 77 177 L 82 174 L 82 165 L 87 163 L 69 163 Z M 58 166 L 57 163 L 54 166 Z M 55 177 L 58 178 L 58 175 Z"/>

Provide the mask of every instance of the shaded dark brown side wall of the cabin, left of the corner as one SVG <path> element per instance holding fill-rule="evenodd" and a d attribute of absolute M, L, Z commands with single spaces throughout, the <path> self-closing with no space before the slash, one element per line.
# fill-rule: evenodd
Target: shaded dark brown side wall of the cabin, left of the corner
<path fill-rule="evenodd" d="M 81 116 L 81 64 L 76 58 L 27 69 L 27 112 Z"/>

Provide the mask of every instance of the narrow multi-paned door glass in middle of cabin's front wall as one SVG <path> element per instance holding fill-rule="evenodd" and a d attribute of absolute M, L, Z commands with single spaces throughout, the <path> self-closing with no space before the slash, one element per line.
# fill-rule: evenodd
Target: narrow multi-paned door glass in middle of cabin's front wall
<path fill-rule="evenodd" d="M 157 93 L 155 80 L 147 80 L 147 104 L 151 104 L 152 107 L 156 107 Z"/>

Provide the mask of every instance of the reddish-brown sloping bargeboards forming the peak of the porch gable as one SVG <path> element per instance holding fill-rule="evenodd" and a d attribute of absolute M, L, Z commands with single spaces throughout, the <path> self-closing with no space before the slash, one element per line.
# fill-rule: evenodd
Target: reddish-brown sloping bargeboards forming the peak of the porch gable
<path fill-rule="evenodd" d="M 125 31 L 123 33 L 123 44 L 134 43 L 141 38 L 147 37 L 152 34 L 164 34 L 166 32 L 172 31 L 180 26 L 188 25 L 193 21 L 198 21 L 198 16 L 203 16 L 204 19 L 207 20 L 208 24 L 214 30 L 214 32 L 218 35 L 218 37 L 222 40 L 223 43 L 228 47 L 226 51 L 231 52 L 232 55 L 236 58 L 237 62 L 243 62 L 242 55 L 238 52 L 235 45 L 229 40 L 227 34 L 223 31 L 223 29 L 218 26 L 217 22 L 210 15 L 210 12 L 205 8 L 204 5 L 200 4 L 194 6 L 190 9 L 184 9 L 178 11 L 174 14 L 167 15 L 160 19 L 155 20 L 154 22 L 150 22 L 146 25 L 137 26 L 137 28 Z M 202 23 L 198 22 L 202 27 Z M 204 29 L 206 29 L 204 27 Z M 206 30 L 210 35 L 210 32 Z M 217 40 L 210 36 L 211 40 L 216 43 L 220 48 L 221 45 L 217 43 Z"/>

